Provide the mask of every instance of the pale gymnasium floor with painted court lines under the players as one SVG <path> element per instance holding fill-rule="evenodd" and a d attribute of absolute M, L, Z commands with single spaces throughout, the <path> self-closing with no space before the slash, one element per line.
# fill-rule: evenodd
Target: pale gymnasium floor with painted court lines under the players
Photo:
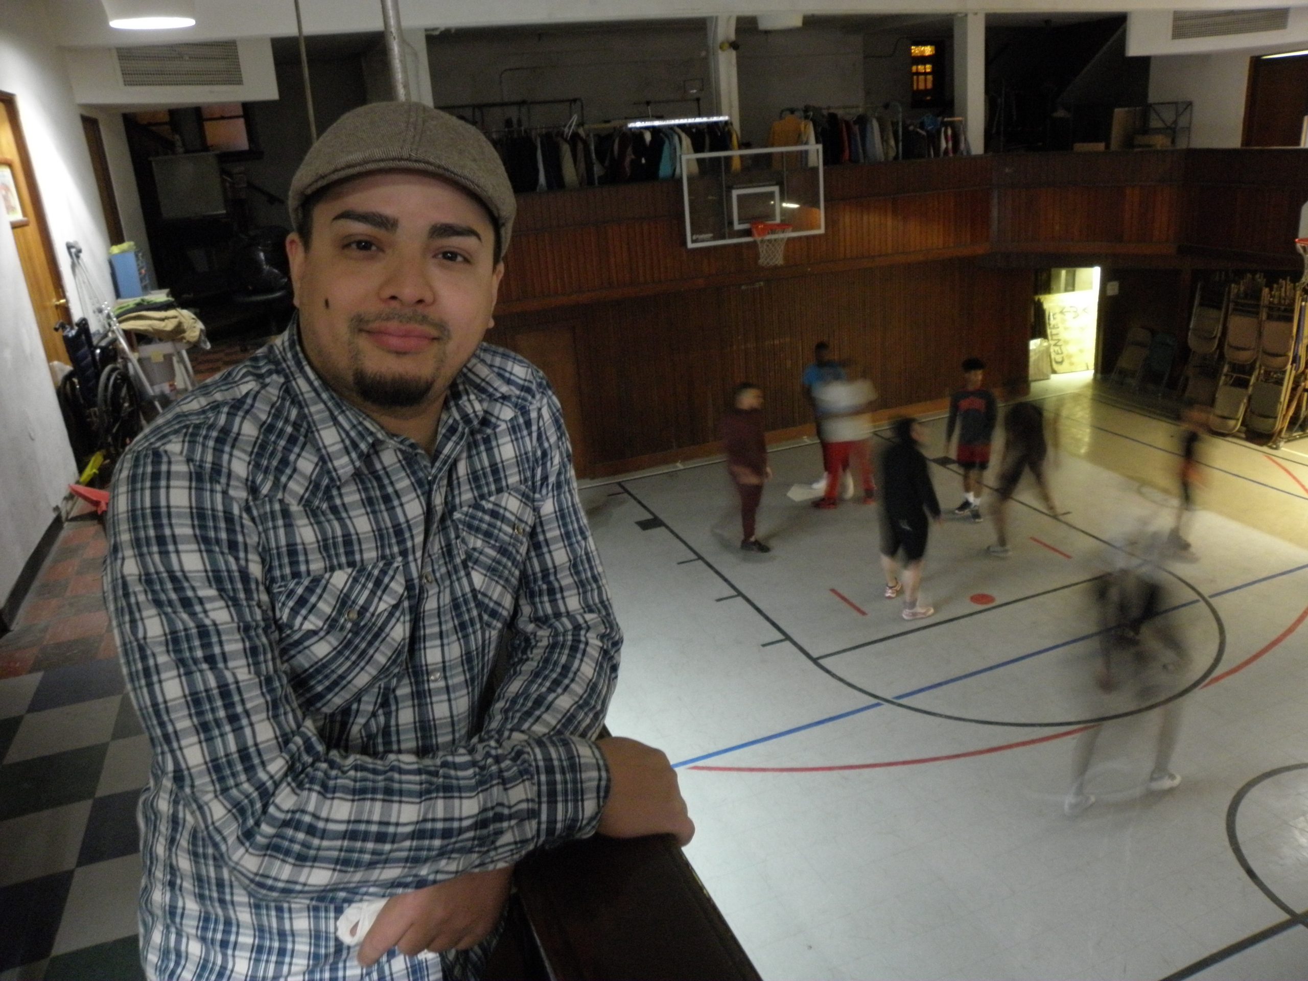
<path fill-rule="evenodd" d="M 1194 559 L 1167 573 L 1190 657 L 1152 696 L 1182 705 L 1182 782 L 1144 789 L 1160 712 L 1137 712 L 1067 818 L 1076 735 L 1138 705 L 1093 684 L 1090 581 L 1168 527 L 1179 443 L 1088 379 L 1036 395 L 1070 513 L 1023 485 L 1008 560 L 989 522 L 933 530 L 925 621 L 882 596 L 875 508 L 786 496 L 816 445 L 772 454 L 766 556 L 738 548 L 721 463 L 585 490 L 627 632 L 610 727 L 678 765 L 691 861 L 769 981 L 1308 978 L 1308 456 L 1209 441 Z"/>

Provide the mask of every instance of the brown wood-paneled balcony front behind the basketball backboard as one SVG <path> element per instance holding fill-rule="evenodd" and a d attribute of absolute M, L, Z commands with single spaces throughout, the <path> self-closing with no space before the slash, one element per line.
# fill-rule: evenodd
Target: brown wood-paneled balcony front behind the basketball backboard
<path fill-rule="evenodd" d="M 764 272 L 747 247 L 685 249 L 676 182 L 525 195 L 500 310 L 967 256 L 1290 268 L 1308 152 L 954 157 L 828 167 L 825 183 L 827 234 Z"/>

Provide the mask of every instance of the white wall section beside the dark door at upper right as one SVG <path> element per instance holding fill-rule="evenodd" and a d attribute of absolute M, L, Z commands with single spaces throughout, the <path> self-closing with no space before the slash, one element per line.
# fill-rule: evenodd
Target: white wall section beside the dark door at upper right
<path fill-rule="evenodd" d="M 1150 59 L 1150 102 L 1194 102 L 1192 146 L 1239 146 L 1244 128 L 1248 51 L 1155 55 Z"/>

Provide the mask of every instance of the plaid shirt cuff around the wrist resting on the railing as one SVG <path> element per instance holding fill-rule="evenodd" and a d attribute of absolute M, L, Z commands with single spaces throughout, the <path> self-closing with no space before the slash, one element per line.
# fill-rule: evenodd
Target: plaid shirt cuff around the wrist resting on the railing
<path fill-rule="evenodd" d="M 527 742 L 535 770 L 539 845 L 586 838 L 599 827 L 611 778 L 599 747 L 581 736 L 534 736 Z"/>

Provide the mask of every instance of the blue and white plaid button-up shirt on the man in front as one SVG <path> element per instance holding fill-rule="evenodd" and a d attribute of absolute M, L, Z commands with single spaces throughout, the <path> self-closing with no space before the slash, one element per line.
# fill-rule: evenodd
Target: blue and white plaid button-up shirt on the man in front
<path fill-rule="evenodd" d="M 328 390 L 293 324 L 133 443 L 109 539 L 153 751 L 150 977 L 436 978 L 396 951 L 364 971 L 336 918 L 594 832 L 621 634 L 521 358 L 477 348 L 428 456 Z"/>

